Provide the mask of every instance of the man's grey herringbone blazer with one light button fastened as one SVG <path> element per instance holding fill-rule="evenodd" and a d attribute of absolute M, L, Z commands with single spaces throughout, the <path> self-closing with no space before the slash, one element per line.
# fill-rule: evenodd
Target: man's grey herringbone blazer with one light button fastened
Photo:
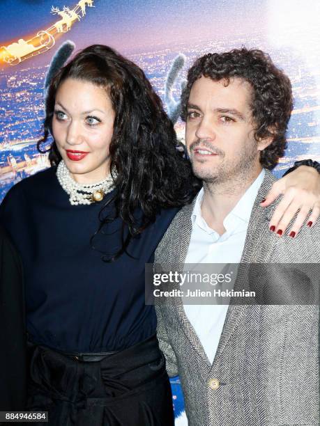
<path fill-rule="evenodd" d="M 241 262 L 319 263 L 319 221 L 311 229 L 303 226 L 294 239 L 268 230 L 276 203 L 259 203 L 274 180 L 267 172 Z M 176 214 L 155 252 L 156 264 L 183 264 L 193 206 Z M 160 348 L 169 374 L 180 375 L 189 426 L 319 425 L 318 306 L 230 305 L 212 365 L 181 299 L 155 308 Z"/>

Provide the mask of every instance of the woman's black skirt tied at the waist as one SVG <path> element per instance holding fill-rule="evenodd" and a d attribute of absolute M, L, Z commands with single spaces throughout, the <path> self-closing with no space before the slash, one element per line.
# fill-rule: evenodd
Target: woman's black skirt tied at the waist
<path fill-rule="evenodd" d="M 30 411 L 51 426 L 173 426 L 165 358 L 155 336 L 102 361 L 82 362 L 29 345 Z"/>

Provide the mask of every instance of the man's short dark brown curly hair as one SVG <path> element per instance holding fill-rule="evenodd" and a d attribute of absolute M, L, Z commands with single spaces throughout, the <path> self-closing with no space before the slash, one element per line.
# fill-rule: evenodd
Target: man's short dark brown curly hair
<path fill-rule="evenodd" d="M 254 138 L 272 137 L 273 142 L 261 151 L 260 163 L 268 169 L 277 165 L 287 148 L 286 131 L 294 106 L 291 83 L 270 56 L 257 49 L 234 49 L 222 54 L 206 54 L 195 61 L 188 72 L 187 86 L 181 95 L 181 118 L 185 120 L 192 84 L 201 76 L 214 81 L 238 77 L 253 88 L 252 117 Z"/>

